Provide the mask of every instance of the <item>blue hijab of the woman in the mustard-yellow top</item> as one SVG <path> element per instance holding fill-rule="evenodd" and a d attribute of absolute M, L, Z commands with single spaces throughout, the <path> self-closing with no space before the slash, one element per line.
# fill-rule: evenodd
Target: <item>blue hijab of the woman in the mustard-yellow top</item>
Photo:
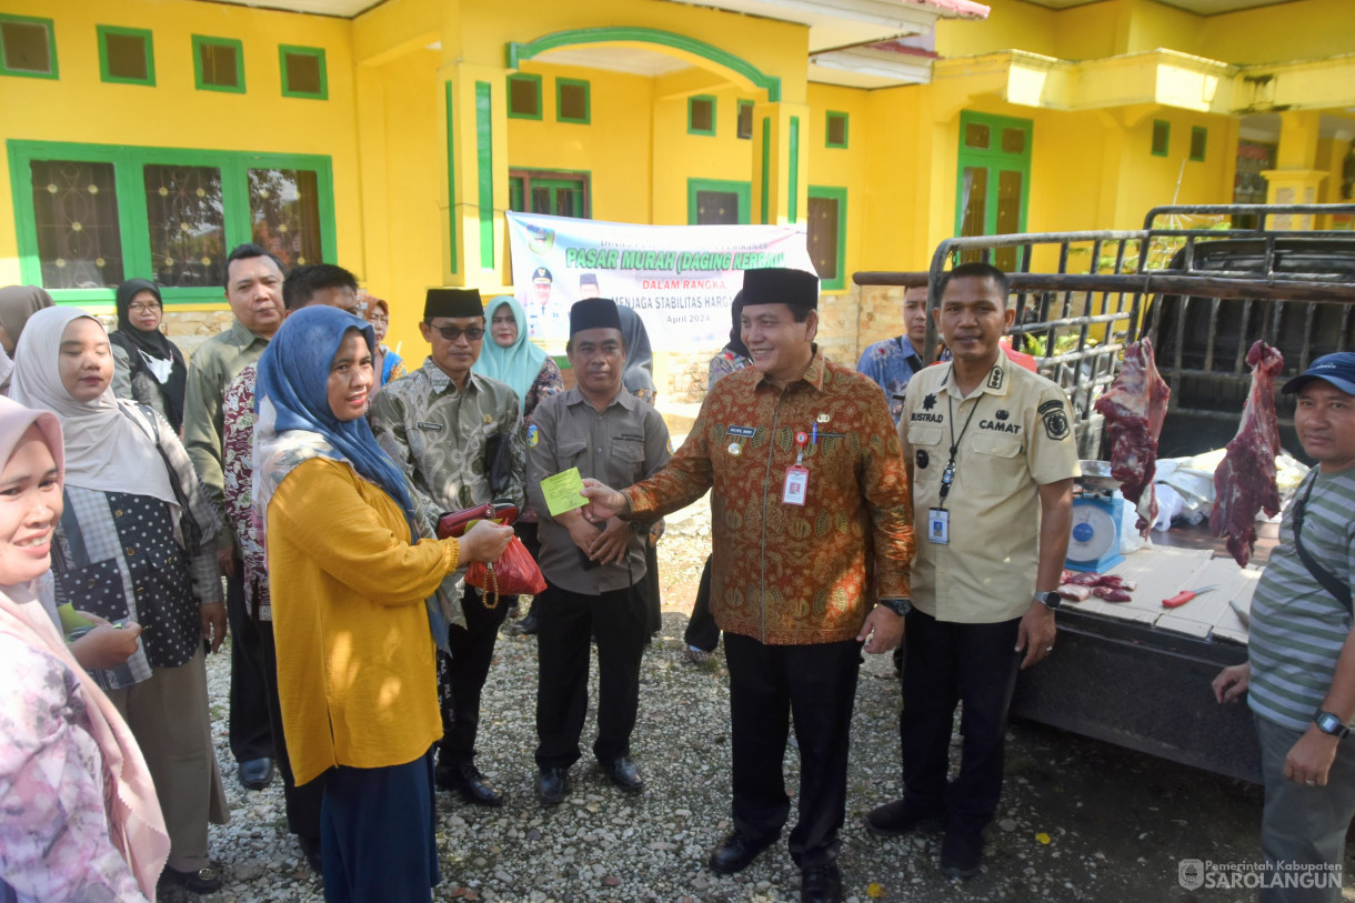
<path fill-rule="evenodd" d="M 371 324 L 339 308 L 313 305 L 287 316 L 259 358 L 255 408 L 262 414 L 271 403 L 276 435 L 287 430 L 313 433 L 331 446 L 332 453 L 322 452 L 325 457 L 347 461 L 358 476 L 385 489 L 405 513 L 412 541 L 417 542 L 405 475 L 377 445 L 367 418 L 341 422 L 329 408 L 329 366 L 348 329 L 360 331 L 367 348 L 375 350 Z"/>

